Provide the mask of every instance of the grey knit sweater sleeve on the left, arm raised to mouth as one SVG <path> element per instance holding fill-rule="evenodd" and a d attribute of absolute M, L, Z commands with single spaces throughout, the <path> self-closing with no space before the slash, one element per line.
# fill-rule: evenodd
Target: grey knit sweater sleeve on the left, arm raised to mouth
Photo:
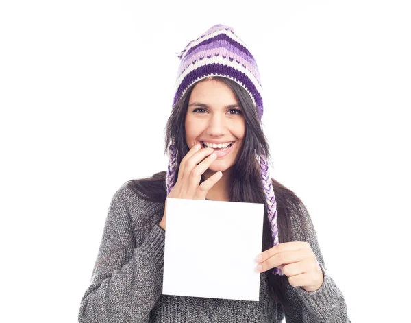
<path fill-rule="evenodd" d="M 80 323 L 148 322 L 162 294 L 165 232 L 156 224 L 136 245 L 124 189 L 110 203 L 90 287 L 80 304 Z"/>

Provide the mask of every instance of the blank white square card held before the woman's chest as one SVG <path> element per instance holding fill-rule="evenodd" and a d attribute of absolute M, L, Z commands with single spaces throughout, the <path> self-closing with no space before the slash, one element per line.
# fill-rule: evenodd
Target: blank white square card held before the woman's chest
<path fill-rule="evenodd" d="M 264 204 L 167 199 L 162 294 L 260 298 Z"/>

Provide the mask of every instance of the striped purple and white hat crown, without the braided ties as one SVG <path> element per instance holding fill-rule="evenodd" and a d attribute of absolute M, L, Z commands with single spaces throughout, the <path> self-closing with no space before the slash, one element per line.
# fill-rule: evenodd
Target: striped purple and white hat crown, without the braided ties
<path fill-rule="evenodd" d="M 247 90 L 261 120 L 260 73 L 247 45 L 236 36 L 232 27 L 214 25 L 177 54 L 181 62 L 175 82 L 173 106 L 192 84 L 206 77 L 224 76 Z"/>

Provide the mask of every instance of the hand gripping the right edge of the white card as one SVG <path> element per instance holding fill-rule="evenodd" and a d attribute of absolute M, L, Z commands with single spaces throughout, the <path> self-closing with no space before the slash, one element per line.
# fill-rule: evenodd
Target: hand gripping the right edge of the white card
<path fill-rule="evenodd" d="M 259 254 L 256 261 L 259 263 L 256 267 L 258 272 L 280 268 L 291 286 L 316 291 L 323 285 L 323 271 L 308 242 L 279 243 Z"/>

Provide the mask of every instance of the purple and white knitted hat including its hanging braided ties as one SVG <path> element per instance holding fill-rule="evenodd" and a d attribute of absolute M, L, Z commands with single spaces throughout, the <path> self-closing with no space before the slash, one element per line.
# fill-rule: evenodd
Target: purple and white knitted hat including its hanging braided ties
<path fill-rule="evenodd" d="M 199 38 L 190 41 L 183 51 L 177 53 L 181 62 L 175 82 L 173 107 L 184 93 L 196 82 L 210 76 L 227 77 L 240 84 L 249 93 L 256 107 L 258 120 L 261 123 L 262 86 L 256 61 L 247 45 L 236 36 L 234 29 L 226 25 L 214 25 Z M 277 202 L 273 183 L 269 174 L 266 156 L 258 156 L 260 162 L 261 182 L 266 195 L 267 211 L 271 228 L 273 246 L 278 241 Z M 167 170 L 167 195 L 175 184 L 177 169 L 177 151 L 173 145 L 169 147 L 169 167 Z M 279 268 L 273 274 L 282 275 Z"/>

